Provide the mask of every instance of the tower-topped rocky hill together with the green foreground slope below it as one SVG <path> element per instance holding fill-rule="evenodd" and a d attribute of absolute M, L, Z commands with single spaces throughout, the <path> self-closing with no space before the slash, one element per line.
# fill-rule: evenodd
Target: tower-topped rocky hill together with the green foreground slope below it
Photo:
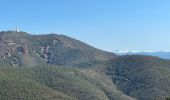
<path fill-rule="evenodd" d="M 0 46 L 0 99 L 133 100 L 91 69 L 112 53 L 63 35 L 14 31 L 0 32 Z"/>

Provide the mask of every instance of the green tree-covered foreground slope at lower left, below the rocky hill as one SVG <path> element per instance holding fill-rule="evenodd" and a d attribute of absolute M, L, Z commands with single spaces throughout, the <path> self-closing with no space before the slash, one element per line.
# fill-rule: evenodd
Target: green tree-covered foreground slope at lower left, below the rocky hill
<path fill-rule="evenodd" d="M 0 70 L 2 100 L 133 100 L 109 78 L 76 68 L 4 66 Z"/>

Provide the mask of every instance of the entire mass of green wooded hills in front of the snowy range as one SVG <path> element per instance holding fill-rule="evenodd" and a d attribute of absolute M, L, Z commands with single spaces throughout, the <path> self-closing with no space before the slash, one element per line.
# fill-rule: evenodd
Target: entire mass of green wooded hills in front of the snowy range
<path fill-rule="evenodd" d="M 57 34 L 0 32 L 2 100 L 164 100 L 170 60 L 119 56 Z"/>

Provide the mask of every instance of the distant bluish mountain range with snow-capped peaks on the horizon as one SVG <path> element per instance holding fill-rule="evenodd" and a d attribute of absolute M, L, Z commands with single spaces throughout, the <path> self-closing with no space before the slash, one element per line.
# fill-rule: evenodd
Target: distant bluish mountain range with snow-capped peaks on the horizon
<path fill-rule="evenodd" d="M 116 50 L 113 53 L 118 55 L 150 55 L 163 59 L 170 59 L 170 51 L 130 51 L 130 50 Z"/>

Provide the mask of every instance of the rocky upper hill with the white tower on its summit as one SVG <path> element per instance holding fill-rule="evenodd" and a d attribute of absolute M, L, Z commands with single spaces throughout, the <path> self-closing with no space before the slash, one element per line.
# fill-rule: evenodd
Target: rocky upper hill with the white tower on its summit
<path fill-rule="evenodd" d="M 64 35 L 31 35 L 26 32 L 0 32 L 0 59 L 12 66 L 35 66 L 42 63 L 88 67 L 108 60 L 114 54 L 91 47 Z"/>

